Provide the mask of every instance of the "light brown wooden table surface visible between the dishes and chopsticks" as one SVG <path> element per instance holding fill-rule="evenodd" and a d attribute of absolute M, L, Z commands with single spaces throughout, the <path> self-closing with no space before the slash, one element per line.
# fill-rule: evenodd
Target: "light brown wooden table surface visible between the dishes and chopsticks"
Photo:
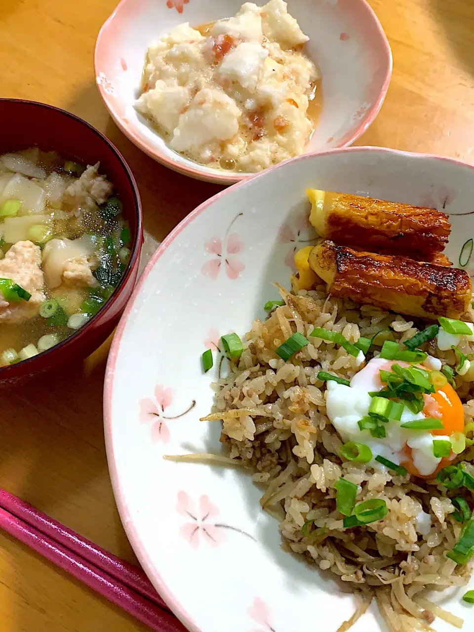
<path fill-rule="evenodd" d="M 391 42 L 394 74 L 379 118 L 358 144 L 473 162 L 472 0 L 370 3 Z M 152 161 L 109 118 L 95 88 L 93 54 L 100 25 L 115 5 L 116 0 L 0 0 L 0 95 L 64 107 L 106 133 L 137 177 L 145 228 L 162 240 L 219 187 Z M 0 486 L 133 561 L 112 495 L 102 435 L 107 349 L 106 343 L 66 375 L 48 375 L 0 392 Z M 145 627 L 0 533 L 0 630 L 121 632 Z"/>

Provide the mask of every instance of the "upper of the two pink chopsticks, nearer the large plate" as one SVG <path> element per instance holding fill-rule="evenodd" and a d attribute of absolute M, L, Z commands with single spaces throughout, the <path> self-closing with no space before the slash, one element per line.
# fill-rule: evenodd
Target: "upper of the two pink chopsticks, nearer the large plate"
<path fill-rule="evenodd" d="M 109 551 L 102 549 L 90 540 L 73 532 L 47 514 L 42 513 L 28 502 L 22 501 L 13 494 L 9 494 L 0 488 L 0 507 L 9 511 L 28 525 L 35 527 L 40 532 L 56 540 L 58 544 L 70 549 L 73 553 L 97 568 L 124 583 L 132 590 L 147 597 L 159 607 L 168 609 L 165 602 L 156 592 L 152 583 L 143 571 L 123 559 L 114 556 Z"/>

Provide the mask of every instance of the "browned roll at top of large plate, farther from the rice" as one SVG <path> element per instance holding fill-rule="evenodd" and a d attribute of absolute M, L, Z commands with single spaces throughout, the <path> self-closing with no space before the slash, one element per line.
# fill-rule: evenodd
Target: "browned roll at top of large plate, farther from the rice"
<path fill-rule="evenodd" d="M 434 262 L 451 233 L 449 218 L 436 209 L 318 189 L 307 195 L 317 233 L 345 246 Z"/>

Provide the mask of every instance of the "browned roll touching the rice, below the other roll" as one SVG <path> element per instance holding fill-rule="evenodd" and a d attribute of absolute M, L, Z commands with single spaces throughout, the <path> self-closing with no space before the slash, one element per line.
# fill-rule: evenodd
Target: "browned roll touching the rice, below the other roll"
<path fill-rule="evenodd" d="M 329 240 L 312 248 L 308 263 L 332 295 L 384 310 L 458 319 L 471 301 L 471 279 L 454 267 L 358 252 Z"/>

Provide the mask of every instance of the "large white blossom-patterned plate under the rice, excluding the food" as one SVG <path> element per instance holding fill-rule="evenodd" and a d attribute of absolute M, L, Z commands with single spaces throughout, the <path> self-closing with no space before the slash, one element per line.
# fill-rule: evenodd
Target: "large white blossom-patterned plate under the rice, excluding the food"
<path fill-rule="evenodd" d="M 473 167 L 355 147 L 294 159 L 219 193 L 155 252 L 112 343 L 107 453 L 138 559 L 193 632 L 295 632 L 308 629 L 308 613 L 318 632 L 335 632 L 353 612 L 353 597 L 329 576 L 281 550 L 250 475 L 162 459 L 221 453 L 220 423 L 199 422 L 212 405 L 217 362 L 203 374 L 200 356 L 220 335 L 242 336 L 265 317 L 265 301 L 279 298 L 272 281 L 289 287 L 293 252 L 313 236 L 307 187 L 444 209 L 454 261 L 474 234 Z M 474 274 L 471 262 L 467 269 Z M 447 607 L 469 630 L 474 612 L 463 590 Z M 452 629 L 439 620 L 434 627 Z M 372 605 L 353 632 L 380 629 Z"/>

